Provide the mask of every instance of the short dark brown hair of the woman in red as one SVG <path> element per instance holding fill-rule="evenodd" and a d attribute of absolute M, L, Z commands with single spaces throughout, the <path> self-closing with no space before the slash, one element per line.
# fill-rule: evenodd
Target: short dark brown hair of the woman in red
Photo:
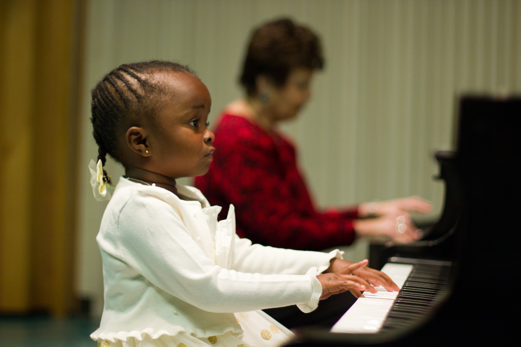
<path fill-rule="evenodd" d="M 249 96 L 257 94 L 255 80 L 265 75 L 276 86 L 286 84 L 294 68 L 322 69 L 324 57 L 318 36 L 288 18 L 267 22 L 251 36 L 240 82 Z"/>

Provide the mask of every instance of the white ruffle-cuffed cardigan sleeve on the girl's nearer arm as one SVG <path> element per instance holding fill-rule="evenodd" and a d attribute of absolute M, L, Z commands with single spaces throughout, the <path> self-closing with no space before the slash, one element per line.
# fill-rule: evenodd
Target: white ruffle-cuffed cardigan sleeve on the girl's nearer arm
<path fill-rule="evenodd" d="M 103 237 L 98 242 L 105 250 L 111 249 Z M 120 212 L 114 252 L 155 286 L 209 312 L 292 304 L 310 312 L 322 293 L 316 268 L 304 275 L 263 275 L 215 265 L 171 205 L 140 191 Z"/>

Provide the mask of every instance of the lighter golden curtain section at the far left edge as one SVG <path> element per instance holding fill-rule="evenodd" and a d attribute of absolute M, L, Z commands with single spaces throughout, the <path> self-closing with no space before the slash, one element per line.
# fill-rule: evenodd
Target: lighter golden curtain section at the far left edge
<path fill-rule="evenodd" d="M 36 4 L 2 2 L 0 16 L 0 312 L 31 304 L 31 173 Z"/>

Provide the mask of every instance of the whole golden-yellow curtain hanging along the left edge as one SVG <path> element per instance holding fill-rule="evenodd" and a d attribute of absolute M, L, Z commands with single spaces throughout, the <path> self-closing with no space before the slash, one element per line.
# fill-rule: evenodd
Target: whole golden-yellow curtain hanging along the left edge
<path fill-rule="evenodd" d="M 1 2 L 0 313 L 71 311 L 80 1 Z"/>

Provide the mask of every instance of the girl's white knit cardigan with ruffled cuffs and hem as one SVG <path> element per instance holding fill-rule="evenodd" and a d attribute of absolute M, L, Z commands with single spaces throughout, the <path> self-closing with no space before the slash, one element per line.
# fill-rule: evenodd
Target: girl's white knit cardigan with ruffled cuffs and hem
<path fill-rule="evenodd" d="M 180 331 L 202 338 L 241 326 L 233 312 L 296 304 L 316 309 L 330 253 L 252 245 L 235 216 L 217 221 L 199 190 L 170 191 L 121 177 L 96 240 L 103 260 L 104 310 L 93 340 L 155 339 Z"/>

